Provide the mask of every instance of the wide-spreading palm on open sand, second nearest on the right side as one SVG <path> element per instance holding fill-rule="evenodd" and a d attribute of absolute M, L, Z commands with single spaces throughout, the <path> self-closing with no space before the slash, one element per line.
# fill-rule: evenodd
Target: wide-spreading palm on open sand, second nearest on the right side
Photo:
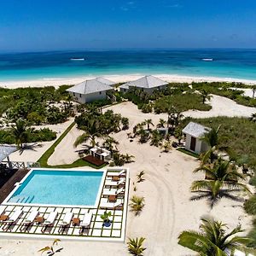
<path fill-rule="evenodd" d="M 231 195 L 241 190 L 251 193 L 247 186 L 241 183 L 224 183 L 219 180 L 197 180 L 191 185 L 191 192 L 198 195 L 192 196 L 191 201 L 207 199 L 209 206 L 212 208 L 221 198 L 228 198 L 234 201 L 243 201 L 237 195 Z"/>

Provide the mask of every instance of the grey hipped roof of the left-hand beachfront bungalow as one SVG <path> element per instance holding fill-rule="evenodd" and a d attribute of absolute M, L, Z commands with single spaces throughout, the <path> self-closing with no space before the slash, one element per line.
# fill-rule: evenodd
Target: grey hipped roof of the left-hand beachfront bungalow
<path fill-rule="evenodd" d="M 113 90 L 113 88 L 108 84 L 104 84 L 96 79 L 86 80 L 67 89 L 67 91 L 76 92 L 84 95 L 105 90 Z"/>

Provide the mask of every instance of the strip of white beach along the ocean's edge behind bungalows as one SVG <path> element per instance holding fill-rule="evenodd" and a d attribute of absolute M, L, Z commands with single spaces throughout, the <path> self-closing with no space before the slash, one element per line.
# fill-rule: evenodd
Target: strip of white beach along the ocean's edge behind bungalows
<path fill-rule="evenodd" d="M 193 77 L 193 76 L 181 76 L 175 74 L 152 74 L 159 79 L 166 80 L 167 82 L 176 83 L 192 83 L 192 82 L 237 82 L 243 84 L 253 85 L 256 84 L 256 80 L 251 79 L 232 79 L 232 78 L 219 78 L 219 77 Z M 118 74 L 118 75 L 102 75 L 105 79 L 113 80 L 116 83 L 128 82 L 139 79 L 143 74 Z M 98 76 L 84 76 L 76 78 L 56 78 L 56 79 L 36 79 L 36 80 L 20 80 L 20 81 L 0 81 L 0 87 L 15 89 L 20 87 L 44 87 L 55 86 L 59 87 L 62 84 L 79 84 L 86 79 L 95 79 Z"/>

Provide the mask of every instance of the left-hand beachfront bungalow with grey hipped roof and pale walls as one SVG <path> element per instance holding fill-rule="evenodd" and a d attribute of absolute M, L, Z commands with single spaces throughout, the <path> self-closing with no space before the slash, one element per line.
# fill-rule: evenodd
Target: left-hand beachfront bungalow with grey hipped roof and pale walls
<path fill-rule="evenodd" d="M 74 101 L 79 103 L 104 100 L 107 98 L 106 92 L 108 90 L 113 90 L 110 85 L 105 84 L 106 80 L 107 79 L 102 78 L 86 80 L 67 89 L 67 91 L 73 96 Z M 103 83 L 103 81 L 105 82 Z"/>

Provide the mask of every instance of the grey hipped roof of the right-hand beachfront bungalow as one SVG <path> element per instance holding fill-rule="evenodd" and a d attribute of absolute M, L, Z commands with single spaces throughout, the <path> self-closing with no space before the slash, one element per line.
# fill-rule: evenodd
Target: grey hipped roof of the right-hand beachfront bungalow
<path fill-rule="evenodd" d="M 168 84 L 166 81 L 155 78 L 154 76 L 145 76 L 141 79 L 137 79 L 135 81 L 128 82 L 121 86 L 128 85 L 128 86 L 136 86 L 136 87 L 140 87 L 140 88 L 154 88 L 154 87 L 158 87 L 158 86 L 166 85 L 166 84 Z M 122 88 L 125 88 L 125 87 L 122 87 Z"/>

